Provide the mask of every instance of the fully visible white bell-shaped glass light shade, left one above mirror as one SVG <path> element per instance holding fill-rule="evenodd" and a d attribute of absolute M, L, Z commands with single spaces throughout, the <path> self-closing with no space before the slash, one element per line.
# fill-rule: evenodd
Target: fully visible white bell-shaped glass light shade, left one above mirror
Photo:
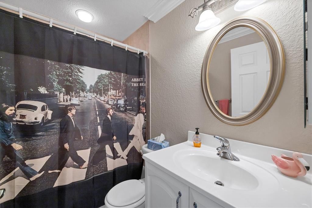
<path fill-rule="evenodd" d="M 195 30 L 197 31 L 208 30 L 219 24 L 220 21 L 221 19 L 217 18 L 211 10 L 209 9 L 204 10 L 200 14 L 199 21 L 195 27 Z"/>

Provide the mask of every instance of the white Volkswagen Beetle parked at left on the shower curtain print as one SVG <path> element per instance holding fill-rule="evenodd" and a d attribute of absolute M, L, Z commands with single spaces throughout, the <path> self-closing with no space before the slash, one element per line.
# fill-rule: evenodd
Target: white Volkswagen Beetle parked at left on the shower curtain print
<path fill-rule="evenodd" d="M 16 123 L 43 126 L 51 120 L 52 111 L 48 105 L 39 101 L 23 100 L 16 104 Z"/>

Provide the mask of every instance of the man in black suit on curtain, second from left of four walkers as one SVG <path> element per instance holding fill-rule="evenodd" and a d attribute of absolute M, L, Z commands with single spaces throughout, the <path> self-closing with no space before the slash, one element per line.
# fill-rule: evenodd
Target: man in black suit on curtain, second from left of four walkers
<path fill-rule="evenodd" d="M 60 122 L 60 137 L 59 137 L 59 149 L 58 149 L 58 163 L 50 168 L 51 172 L 60 172 L 65 166 L 69 157 L 79 165 L 79 168 L 86 168 L 88 162 L 82 159 L 75 148 L 74 142 L 76 140 L 82 140 L 80 130 L 75 124 L 73 115 L 76 114 L 76 108 L 73 105 L 66 105 L 65 112 L 67 115 L 62 118 Z M 56 158 L 54 158 L 56 160 Z"/>

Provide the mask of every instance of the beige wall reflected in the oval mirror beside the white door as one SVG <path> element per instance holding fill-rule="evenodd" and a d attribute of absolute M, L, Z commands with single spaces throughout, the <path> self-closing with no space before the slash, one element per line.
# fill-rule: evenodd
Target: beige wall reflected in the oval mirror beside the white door
<path fill-rule="evenodd" d="M 263 40 L 258 33 L 251 33 L 217 45 L 209 67 L 209 86 L 214 100 L 231 98 L 231 49 L 261 41 Z M 231 102 L 229 108 L 231 116 Z"/>

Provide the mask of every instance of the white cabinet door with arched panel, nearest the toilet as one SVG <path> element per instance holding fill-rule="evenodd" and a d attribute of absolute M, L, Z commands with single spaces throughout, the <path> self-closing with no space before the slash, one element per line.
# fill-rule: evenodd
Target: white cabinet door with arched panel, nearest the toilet
<path fill-rule="evenodd" d="M 145 161 L 145 207 L 188 208 L 188 186 Z"/>

